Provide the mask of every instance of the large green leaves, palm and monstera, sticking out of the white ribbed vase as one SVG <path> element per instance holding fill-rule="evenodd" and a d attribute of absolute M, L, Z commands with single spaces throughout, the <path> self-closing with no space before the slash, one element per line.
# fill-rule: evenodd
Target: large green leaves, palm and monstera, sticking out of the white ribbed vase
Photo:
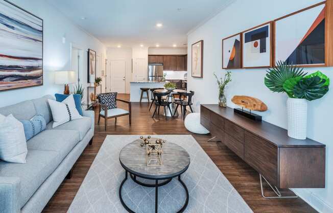
<path fill-rule="evenodd" d="M 329 78 L 317 71 L 306 75 L 303 69 L 278 61 L 277 66 L 267 71 L 265 85 L 273 92 L 285 92 L 290 98 L 309 101 L 319 99 L 328 92 Z"/>

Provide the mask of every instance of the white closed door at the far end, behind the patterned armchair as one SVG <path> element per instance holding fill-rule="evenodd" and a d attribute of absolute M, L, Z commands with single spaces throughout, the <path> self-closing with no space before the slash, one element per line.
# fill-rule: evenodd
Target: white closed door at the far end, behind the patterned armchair
<path fill-rule="evenodd" d="M 125 60 L 112 60 L 110 62 L 112 92 L 125 93 L 126 63 Z"/>

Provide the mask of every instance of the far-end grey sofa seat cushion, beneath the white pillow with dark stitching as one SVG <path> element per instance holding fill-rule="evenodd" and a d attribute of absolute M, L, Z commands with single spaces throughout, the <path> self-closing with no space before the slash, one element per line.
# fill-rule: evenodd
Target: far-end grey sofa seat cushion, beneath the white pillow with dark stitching
<path fill-rule="evenodd" d="M 55 128 L 52 126 L 53 121 L 47 124 L 46 130 L 75 130 L 80 133 L 80 140 L 82 140 L 91 127 L 91 118 L 82 117 L 82 119 L 72 120 Z"/>

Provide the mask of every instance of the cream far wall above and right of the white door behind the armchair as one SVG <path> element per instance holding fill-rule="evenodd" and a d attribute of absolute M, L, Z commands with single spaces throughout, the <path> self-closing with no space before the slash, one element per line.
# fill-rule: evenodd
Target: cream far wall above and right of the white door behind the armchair
<path fill-rule="evenodd" d="M 132 48 L 108 48 L 108 63 L 112 60 L 125 60 L 126 63 L 126 93 L 130 93 L 130 82 L 132 81 Z M 108 70 L 110 67 L 108 67 Z M 111 73 L 112 74 L 112 73 Z M 112 82 L 111 82 L 112 90 Z"/>

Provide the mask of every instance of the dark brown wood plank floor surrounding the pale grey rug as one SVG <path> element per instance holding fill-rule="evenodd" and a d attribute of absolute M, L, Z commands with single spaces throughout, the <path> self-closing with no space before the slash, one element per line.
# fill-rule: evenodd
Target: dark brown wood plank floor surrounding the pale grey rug
<path fill-rule="evenodd" d="M 129 95 L 119 96 L 129 99 Z M 124 108 L 125 104 L 118 103 L 118 107 Z M 132 103 L 132 113 L 131 126 L 127 116 L 118 118 L 116 125 L 114 119 L 110 119 L 107 132 L 104 131 L 103 118 L 100 125 L 97 124 L 96 120 L 92 145 L 86 147 L 75 164 L 72 179 L 63 181 L 43 212 L 67 211 L 107 135 L 191 134 L 185 129 L 180 117 L 165 120 L 164 116 L 160 115 L 158 118 L 152 119 L 152 112 L 148 111 L 147 103 Z M 233 154 L 225 145 L 216 142 L 207 143 L 210 135 L 194 134 L 193 136 L 254 212 L 317 212 L 299 198 L 264 199 L 261 197 L 259 175 L 254 169 Z M 265 189 L 270 195 L 269 188 L 265 187 Z M 287 191 L 287 193 L 289 192 Z"/>

